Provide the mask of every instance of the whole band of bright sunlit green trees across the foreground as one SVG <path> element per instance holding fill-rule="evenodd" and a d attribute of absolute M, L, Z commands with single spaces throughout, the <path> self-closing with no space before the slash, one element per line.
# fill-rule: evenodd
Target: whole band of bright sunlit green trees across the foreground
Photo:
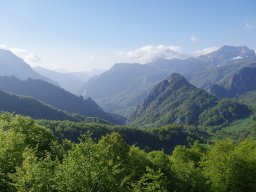
<path fill-rule="evenodd" d="M 119 133 L 57 142 L 34 120 L 0 116 L 0 191 L 256 191 L 256 141 L 177 146 L 171 155 L 128 145 Z"/>

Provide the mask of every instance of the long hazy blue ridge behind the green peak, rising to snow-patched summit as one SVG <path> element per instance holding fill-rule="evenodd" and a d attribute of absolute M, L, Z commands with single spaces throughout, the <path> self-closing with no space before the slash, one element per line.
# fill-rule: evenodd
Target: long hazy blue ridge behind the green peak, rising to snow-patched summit
<path fill-rule="evenodd" d="M 171 73 L 182 74 L 193 85 L 207 90 L 252 62 L 256 62 L 253 50 L 225 45 L 197 58 L 159 59 L 143 65 L 120 63 L 88 81 L 83 96 L 92 97 L 109 112 L 129 116 L 154 85 Z"/>

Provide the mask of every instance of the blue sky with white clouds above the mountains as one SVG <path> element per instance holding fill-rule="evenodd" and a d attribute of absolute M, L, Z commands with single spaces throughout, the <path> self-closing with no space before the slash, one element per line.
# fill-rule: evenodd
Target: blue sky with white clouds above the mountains
<path fill-rule="evenodd" d="M 0 0 L 0 48 L 66 71 L 256 50 L 255 0 Z"/>

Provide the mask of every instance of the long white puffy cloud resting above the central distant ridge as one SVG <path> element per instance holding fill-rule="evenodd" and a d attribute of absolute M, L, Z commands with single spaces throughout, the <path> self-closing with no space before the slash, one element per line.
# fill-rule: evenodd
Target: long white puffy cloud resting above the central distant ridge
<path fill-rule="evenodd" d="M 172 45 L 146 45 L 127 52 L 119 52 L 122 60 L 147 63 L 156 59 L 181 58 L 181 48 Z"/>

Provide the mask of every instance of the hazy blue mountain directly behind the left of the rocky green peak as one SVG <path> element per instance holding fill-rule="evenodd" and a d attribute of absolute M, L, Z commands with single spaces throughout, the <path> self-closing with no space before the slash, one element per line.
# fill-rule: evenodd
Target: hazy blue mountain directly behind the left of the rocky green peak
<path fill-rule="evenodd" d="M 165 74 L 154 66 L 115 64 L 110 70 L 86 83 L 83 95 L 92 97 L 107 111 L 122 114 L 135 109 L 149 93 L 151 86 Z"/>

